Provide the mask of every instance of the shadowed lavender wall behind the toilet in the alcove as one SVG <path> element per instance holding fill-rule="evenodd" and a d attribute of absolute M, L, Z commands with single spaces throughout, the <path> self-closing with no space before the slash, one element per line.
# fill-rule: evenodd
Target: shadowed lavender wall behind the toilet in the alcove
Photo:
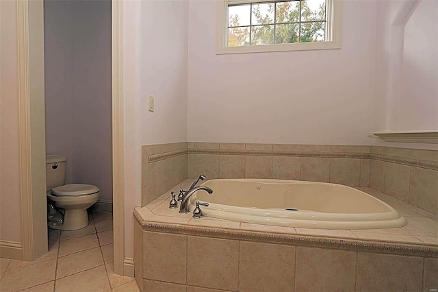
<path fill-rule="evenodd" d="M 44 1 L 47 153 L 112 201 L 111 1 Z"/>

